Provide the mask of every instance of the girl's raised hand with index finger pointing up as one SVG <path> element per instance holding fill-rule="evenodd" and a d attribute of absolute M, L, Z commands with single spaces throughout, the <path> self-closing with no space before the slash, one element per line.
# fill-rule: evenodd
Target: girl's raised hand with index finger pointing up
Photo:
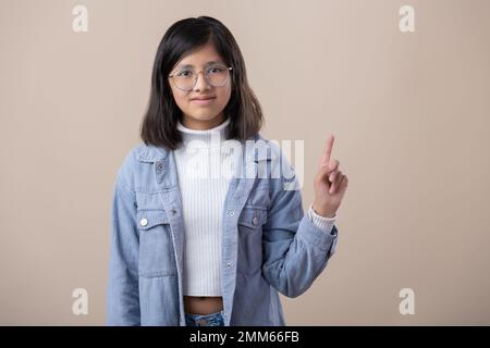
<path fill-rule="evenodd" d="M 335 216 L 348 183 L 347 176 L 339 171 L 340 162 L 330 160 L 333 139 L 333 135 L 327 138 L 323 154 L 318 165 L 318 173 L 314 179 L 315 200 L 313 209 L 317 214 L 324 217 Z"/>

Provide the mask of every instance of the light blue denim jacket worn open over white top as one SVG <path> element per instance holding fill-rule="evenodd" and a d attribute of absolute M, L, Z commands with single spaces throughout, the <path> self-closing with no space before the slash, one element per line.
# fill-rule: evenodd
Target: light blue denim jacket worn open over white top
<path fill-rule="evenodd" d="M 231 178 L 222 214 L 224 325 L 285 325 L 279 293 L 294 298 L 311 286 L 338 229 L 328 234 L 304 214 L 301 190 L 285 189 L 297 183 L 294 169 L 277 148 L 243 149 L 243 175 Z M 270 175 L 277 159 L 293 175 Z M 128 151 L 111 217 L 106 324 L 185 326 L 184 223 L 171 150 L 139 144 Z"/>

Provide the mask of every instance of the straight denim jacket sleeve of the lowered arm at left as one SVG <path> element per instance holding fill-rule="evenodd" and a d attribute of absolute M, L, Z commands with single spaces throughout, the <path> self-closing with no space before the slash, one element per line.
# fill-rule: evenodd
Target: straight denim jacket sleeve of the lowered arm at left
<path fill-rule="evenodd" d="M 118 172 L 112 195 L 107 325 L 139 325 L 136 199 Z"/>

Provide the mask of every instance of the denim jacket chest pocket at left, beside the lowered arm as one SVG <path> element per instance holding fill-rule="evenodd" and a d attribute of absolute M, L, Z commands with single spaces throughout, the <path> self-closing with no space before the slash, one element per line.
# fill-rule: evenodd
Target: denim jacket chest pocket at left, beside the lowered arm
<path fill-rule="evenodd" d="M 139 275 L 157 277 L 176 274 L 175 252 L 167 212 L 137 211 L 139 229 Z"/>

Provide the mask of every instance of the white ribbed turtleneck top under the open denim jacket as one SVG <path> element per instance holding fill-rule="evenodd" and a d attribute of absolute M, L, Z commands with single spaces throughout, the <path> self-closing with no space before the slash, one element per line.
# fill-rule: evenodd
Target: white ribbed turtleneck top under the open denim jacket
<path fill-rule="evenodd" d="M 185 231 L 183 291 L 221 296 L 222 211 L 234 153 L 221 151 L 226 119 L 215 128 L 195 130 L 181 122 L 183 144 L 174 150 Z"/>

